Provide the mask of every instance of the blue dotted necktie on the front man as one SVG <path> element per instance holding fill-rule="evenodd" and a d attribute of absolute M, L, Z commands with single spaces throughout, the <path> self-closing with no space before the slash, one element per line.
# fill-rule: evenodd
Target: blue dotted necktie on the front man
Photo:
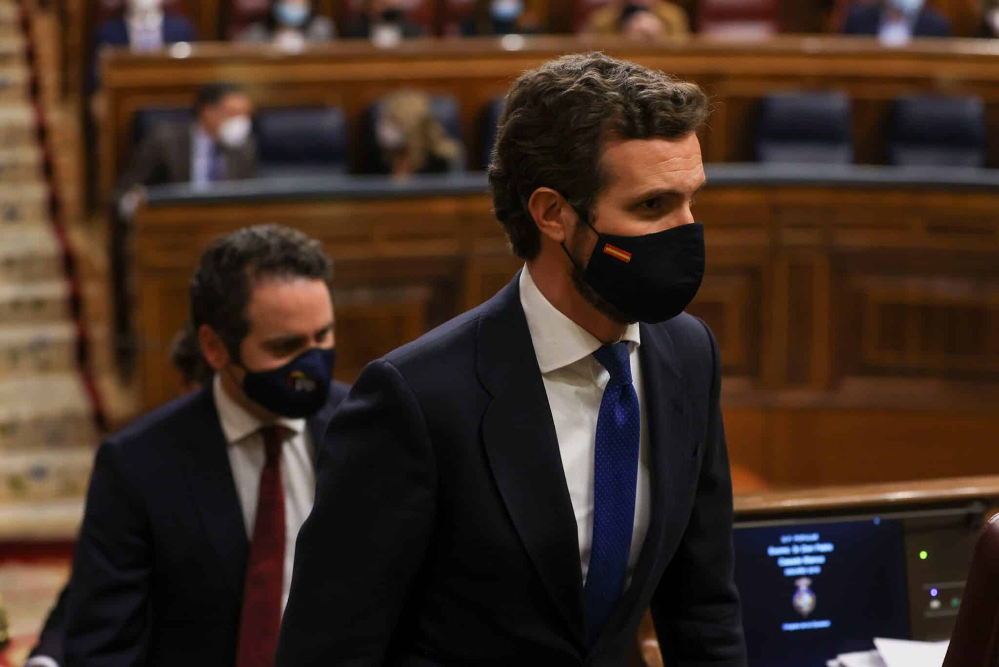
<path fill-rule="evenodd" d="M 603 389 L 596 419 L 593 543 L 582 590 L 590 645 L 596 643 L 624 590 L 634 527 L 641 433 L 638 394 L 631 384 L 627 343 L 603 345 L 593 356 L 610 373 L 610 380 Z"/>

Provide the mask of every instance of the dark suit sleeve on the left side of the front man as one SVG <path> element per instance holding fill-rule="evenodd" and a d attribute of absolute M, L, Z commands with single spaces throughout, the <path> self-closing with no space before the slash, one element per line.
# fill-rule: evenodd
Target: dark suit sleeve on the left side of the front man
<path fill-rule="evenodd" d="M 437 466 L 420 404 L 374 361 L 323 441 L 277 665 L 381 665 L 433 531 Z"/>

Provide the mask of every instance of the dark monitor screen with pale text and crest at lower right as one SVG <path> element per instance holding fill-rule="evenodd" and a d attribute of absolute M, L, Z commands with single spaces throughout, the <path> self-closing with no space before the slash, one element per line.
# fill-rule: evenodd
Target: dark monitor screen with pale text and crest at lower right
<path fill-rule="evenodd" d="M 824 667 L 873 637 L 911 637 L 902 519 L 736 525 L 752 667 Z"/>

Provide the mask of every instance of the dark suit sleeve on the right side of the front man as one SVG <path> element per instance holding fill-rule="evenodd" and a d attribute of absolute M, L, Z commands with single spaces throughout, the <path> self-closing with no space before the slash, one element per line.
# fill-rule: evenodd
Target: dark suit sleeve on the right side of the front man
<path fill-rule="evenodd" d="M 703 326 L 703 323 L 701 323 Z M 704 458 L 686 530 L 652 596 L 652 618 L 667 665 L 746 664 L 733 576 L 732 483 L 721 422 L 718 344 L 710 340 L 711 380 Z"/>

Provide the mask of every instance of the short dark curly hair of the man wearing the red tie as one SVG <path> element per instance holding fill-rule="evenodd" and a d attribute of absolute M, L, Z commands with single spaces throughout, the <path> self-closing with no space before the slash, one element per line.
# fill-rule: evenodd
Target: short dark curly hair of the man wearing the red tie
<path fill-rule="evenodd" d="M 279 225 L 247 227 L 216 239 L 191 279 L 194 331 L 208 325 L 238 360 L 250 332 L 246 311 L 253 284 L 271 278 L 315 279 L 332 288 L 333 261 L 318 241 Z"/>

